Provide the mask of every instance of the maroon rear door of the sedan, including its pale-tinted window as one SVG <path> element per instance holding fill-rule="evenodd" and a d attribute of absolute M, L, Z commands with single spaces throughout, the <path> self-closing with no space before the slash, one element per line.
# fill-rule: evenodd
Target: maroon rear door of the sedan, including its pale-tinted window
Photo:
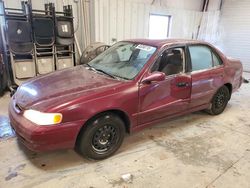
<path fill-rule="evenodd" d="M 190 107 L 210 103 L 217 89 L 223 85 L 224 69 L 219 55 L 209 46 L 190 45 L 192 92 Z"/>

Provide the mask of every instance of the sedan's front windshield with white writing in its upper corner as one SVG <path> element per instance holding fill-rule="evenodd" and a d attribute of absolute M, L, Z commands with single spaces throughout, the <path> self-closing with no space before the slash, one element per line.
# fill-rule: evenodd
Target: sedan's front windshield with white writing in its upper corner
<path fill-rule="evenodd" d="M 88 63 L 97 71 L 132 80 L 156 51 L 155 47 L 118 42 Z"/>

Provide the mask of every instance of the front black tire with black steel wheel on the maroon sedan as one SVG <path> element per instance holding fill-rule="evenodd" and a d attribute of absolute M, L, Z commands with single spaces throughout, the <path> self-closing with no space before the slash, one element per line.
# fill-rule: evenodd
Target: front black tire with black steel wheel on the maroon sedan
<path fill-rule="evenodd" d="M 78 136 L 76 149 L 88 159 L 110 157 L 121 146 L 125 124 L 113 113 L 102 114 L 88 122 Z"/>

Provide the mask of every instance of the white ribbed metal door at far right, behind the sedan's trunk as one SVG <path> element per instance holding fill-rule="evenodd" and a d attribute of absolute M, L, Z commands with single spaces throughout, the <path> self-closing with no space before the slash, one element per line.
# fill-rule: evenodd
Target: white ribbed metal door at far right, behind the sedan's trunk
<path fill-rule="evenodd" d="M 250 71 L 250 1 L 225 0 L 222 8 L 221 48 L 243 62 L 245 71 Z"/>

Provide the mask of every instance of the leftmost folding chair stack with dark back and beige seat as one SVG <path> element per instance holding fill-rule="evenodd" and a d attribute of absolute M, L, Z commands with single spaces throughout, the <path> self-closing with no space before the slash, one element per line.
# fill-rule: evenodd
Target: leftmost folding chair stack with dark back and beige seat
<path fill-rule="evenodd" d="M 22 10 L 6 11 L 7 43 L 12 67 L 13 80 L 17 85 L 36 76 L 32 27 L 29 5 L 22 2 Z"/>

